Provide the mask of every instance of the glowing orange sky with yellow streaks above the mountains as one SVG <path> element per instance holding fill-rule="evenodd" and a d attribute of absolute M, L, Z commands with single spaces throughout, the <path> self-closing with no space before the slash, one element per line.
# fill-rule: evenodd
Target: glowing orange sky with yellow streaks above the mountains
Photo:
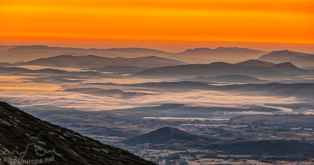
<path fill-rule="evenodd" d="M 2 45 L 173 44 L 176 51 L 183 41 L 191 47 L 218 41 L 307 43 L 294 46 L 314 52 L 313 0 L 0 0 L 0 17 Z"/>

